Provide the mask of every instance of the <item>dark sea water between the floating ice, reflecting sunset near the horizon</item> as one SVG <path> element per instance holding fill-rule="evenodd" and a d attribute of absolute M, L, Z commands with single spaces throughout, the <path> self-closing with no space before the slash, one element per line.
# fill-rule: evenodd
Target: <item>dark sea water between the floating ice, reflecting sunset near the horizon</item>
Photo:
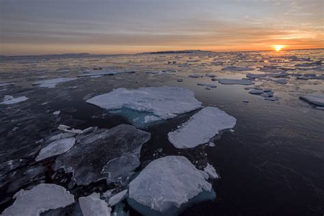
<path fill-rule="evenodd" d="M 4 95 L 27 96 L 29 100 L 16 105 L 0 105 L 0 212 L 12 204 L 12 195 L 19 189 L 29 189 L 38 183 L 55 183 L 67 187 L 66 176 L 53 178 L 51 163 L 36 163 L 42 144 L 40 139 L 56 131 L 59 124 L 76 129 L 88 126 L 111 128 L 130 124 L 122 116 L 85 103 L 100 93 L 117 87 L 180 86 L 195 92 L 195 98 L 204 106 L 213 105 L 237 118 L 234 131 L 224 131 L 215 137 L 215 147 L 206 145 L 187 150 L 174 148 L 167 133 L 192 116 L 185 113 L 144 128 L 152 138 L 141 149 L 139 172 L 150 161 L 166 155 L 183 155 L 198 168 L 206 162 L 213 165 L 221 178 L 213 180 L 217 198 L 195 204 L 183 215 L 323 215 L 324 213 L 324 111 L 306 101 L 301 94 L 324 93 L 323 80 L 297 80 L 288 77 L 286 85 L 272 81 L 256 81 L 256 85 L 269 87 L 278 101 L 264 100 L 261 96 L 248 94 L 244 85 L 221 85 L 210 78 L 190 78 L 191 73 L 211 72 L 217 77 L 242 78 L 243 72 L 224 71 L 221 68 L 235 66 L 258 66 L 279 64 L 294 73 L 323 75 L 321 65 L 317 68 L 298 68 L 289 57 L 310 57 L 323 60 L 324 51 L 291 51 L 279 53 L 208 53 L 183 55 L 121 55 L 83 58 L 29 57 L 3 58 L 0 60 L 0 82 L 15 85 L 0 87 Z M 176 64 L 167 64 L 174 60 Z M 195 62 L 197 60 L 198 62 Z M 189 62 L 187 62 L 189 61 Z M 213 62 L 222 61 L 223 66 Z M 188 64 L 181 66 L 181 64 Z M 55 88 L 40 88 L 31 83 L 39 79 L 76 77 L 84 70 L 94 67 L 132 69 L 134 74 L 120 74 L 98 78 L 80 78 L 59 83 Z M 176 72 L 149 75 L 146 71 L 174 69 Z M 307 69 L 307 70 L 306 70 Z M 67 71 L 68 70 L 68 71 Z M 63 72 L 62 72 L 63 71 Z M 257 70 L 254 73 L 259 73 Z M 44 77 L 46 76 L 46 77 Z M 178 83 L 176 79 L 184 81 Z M 205 90 L 199 82 L 216 83 L 217 88 Z M 247 99 L 249 103 L 243 103 Z M 46 103 L 46 104 L 44 104 Z M 53 111 L 61 111 L 59 116 Z M 163 148 L 162 152 L 158 152 Z M 11 161 L 8 163 L 8 161 Z M 10 165 L 8 165 L 10 164 Z M 44 171 L 26 177 L 31 167 L 44 167 Z M 17 179 L 22 179 L 22 182 Z M 12 184 L 16 182 L 16 184 Z M 16 185 L 16 187 L 14 187 Z M 109 186 L 110 187 L 110 186 Z M 103 192 L 103 183 L 89 187 L 74 188 L 76 196 L 93 191 Z M 131 215 L 135 211 L 126 206 Z"/>

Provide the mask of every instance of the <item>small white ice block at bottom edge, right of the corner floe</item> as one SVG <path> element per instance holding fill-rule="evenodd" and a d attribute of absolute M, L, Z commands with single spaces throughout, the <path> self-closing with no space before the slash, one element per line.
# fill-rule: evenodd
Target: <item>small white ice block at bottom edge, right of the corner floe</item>
<path fill-rule="evenodd" d="M 100 200 L 99 193 L 79 198 L 79 204 L 83 216 L 110 216 L 111 208 L 108 207 L 105 200 Z"/>

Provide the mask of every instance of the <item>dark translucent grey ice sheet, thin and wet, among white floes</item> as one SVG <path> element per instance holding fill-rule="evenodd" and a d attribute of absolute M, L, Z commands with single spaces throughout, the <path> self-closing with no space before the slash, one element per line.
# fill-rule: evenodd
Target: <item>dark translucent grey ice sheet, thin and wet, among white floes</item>
<path fill-rule="evenodd" d="M 78 185 L 88 185 L 101 179 L 124 185 L 139 165 L 142 144 L 150 133 L 135 126 L 121 124 L 112 129 L 94 129 L 79 134 L 77 144 L 55 161 L 55 170 L 72 172 Z"/>

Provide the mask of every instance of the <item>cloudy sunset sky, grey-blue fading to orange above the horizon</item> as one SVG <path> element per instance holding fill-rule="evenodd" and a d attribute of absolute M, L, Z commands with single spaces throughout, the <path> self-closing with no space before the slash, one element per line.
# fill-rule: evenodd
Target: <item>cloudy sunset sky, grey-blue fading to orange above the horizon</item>
<path fill-rule="evenodd" d="M 324 48 L 323 0 L 0 0 L 0 55 Z"/>

